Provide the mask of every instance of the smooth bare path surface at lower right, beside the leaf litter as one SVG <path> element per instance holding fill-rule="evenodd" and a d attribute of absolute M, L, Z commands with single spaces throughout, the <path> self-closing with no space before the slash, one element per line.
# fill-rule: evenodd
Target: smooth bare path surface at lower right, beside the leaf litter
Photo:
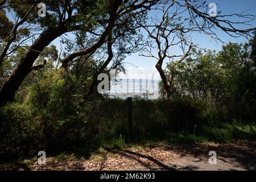
<path fill-rule="evenodd" d="M 129 168 L 128 170 L 185 170 L 185 171 L 245 171 L 256 170 L 256 143 L 196 144 L 192 146 L 169 146 L 180 154 L 162 164 Z M 210 165 L 209 151 L 216 151 L 217 164 Z"/>

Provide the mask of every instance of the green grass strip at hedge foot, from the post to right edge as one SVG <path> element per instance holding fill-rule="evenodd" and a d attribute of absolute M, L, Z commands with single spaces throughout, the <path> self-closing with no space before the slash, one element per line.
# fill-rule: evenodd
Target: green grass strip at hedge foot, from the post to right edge
<path fill-rule="evenodd" d="M 256 140 L 255 123 L 245 125 L 239 122 L 222 123 L 212 127 L 201 126 L 195 134 L 189 134 L 185 131 L 179 133 L 167 133 L 165 138 L 152 137 L 150 139 L 137 140 L 136 142 L 127 142 L 125 138 L 105 140 L 102 148 L 112 148 L 119 150 L 125 147 L 143 146 L 144 144 L 168 142 L 171 144 L 183 143 L 232 143 L 236 140 Z"/>

